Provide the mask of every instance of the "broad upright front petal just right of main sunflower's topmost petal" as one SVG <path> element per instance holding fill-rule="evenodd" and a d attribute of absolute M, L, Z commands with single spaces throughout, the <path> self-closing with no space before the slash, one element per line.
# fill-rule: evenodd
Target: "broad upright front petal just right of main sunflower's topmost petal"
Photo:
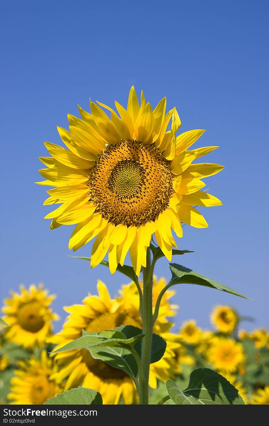
<path fill-rule="evenodd" d="M 152 125 L 153 125 L 153 112 L 148 102 L 144 108 L 140 108 L 139 114 L 134 125 L 134 135 L 142 143 L 152 143 Z"/>

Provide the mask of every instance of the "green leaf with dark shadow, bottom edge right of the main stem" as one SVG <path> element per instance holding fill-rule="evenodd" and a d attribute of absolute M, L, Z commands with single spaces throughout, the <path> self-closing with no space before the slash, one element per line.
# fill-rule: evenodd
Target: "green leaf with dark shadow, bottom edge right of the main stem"
<path fill-rule="evenodd" d="M 166 382 L 167 392 L 177 405 L 244 405 L 238 390 L 210 368 L 198 368 L 190 374 L 190 383 L 183 392 L 173 380 Z"/>

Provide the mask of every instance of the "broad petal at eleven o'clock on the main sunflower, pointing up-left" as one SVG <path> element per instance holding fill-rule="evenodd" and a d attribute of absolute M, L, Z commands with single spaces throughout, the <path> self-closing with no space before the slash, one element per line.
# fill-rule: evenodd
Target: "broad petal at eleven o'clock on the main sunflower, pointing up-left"
<path fill-rule="evenodd" d="M 98 126 L 98 132 L 105 139 L 106 142 L 110 144 L 116 144 L 120 141 L 120 135 L 116 130 L 116 127 L 112 121 L 108 118 L 105 112 L 98 107 L 98 105 L 93 102 L 91 105 L 91 113 L 93 115 L 94 121 Z"/>

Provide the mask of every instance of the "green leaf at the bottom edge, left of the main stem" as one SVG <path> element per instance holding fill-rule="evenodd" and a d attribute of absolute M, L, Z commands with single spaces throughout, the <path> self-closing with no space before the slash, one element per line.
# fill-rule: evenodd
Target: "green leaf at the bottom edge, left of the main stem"
<path fill-rule="evenodd" d="M 93 389 L 79 386 L 50 398 L 45 405 L 102 405 L 102 396 Z"/>

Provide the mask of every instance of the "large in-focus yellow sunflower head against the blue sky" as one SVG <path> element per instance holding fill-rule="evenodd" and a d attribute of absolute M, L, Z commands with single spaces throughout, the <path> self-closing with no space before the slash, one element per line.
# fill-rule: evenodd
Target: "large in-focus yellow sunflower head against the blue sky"
<path fill-rule="evenodd" d="M 110 118 L 97 104 L 110 111 Z M 67 149 L 45 142 L 51 157 L 40 157 L 48 168 L 39 170 L 46 180 L 37 183 L 55 187 L 47 191 L 45 205 L 61 204 L 45 218 L 52 219 L 51 229 L 77 224 L 70 249 L 77 250 L 96 237 L 92 268 L 108 251 L 114 273 L 129 250 L 139 275 L 153 234 L 171 260 L 176 247 L 171 228 L 181 237 L 181 221 L 197 228 L 208 226 L 192 206 L 221 205 L 201 191 L 205 186 L 201 178 L 218 173 L 223 166 L 192 164 L 217 147 L 187 150 L 204 130 L 176 136 L 181 121 L 176 108 L 165 112 L 166 98 L 152 110 L 143 92 L 139 105 L 132 87 L 127 109 L 115 102 L 119 116 L 97 104 L 90 101 L 91 114 L 79 107 L 82 119 L 68 115 L 70 132 L 58 127 Z"/>

